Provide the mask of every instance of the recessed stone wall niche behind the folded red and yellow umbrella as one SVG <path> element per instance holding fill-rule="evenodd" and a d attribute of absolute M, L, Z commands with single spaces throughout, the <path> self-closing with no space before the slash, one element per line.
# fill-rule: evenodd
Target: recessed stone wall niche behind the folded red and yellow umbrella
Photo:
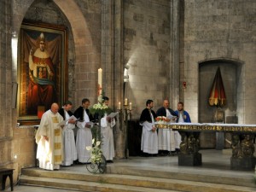
<path fill-rule="evenodd" d="M 224 106 L 226 116 L 234 116 L 241 111 L 241 98 L 243 98 L 242 66 L 239 60 L 218 58 L 199 62 L 199 121 L 209 122 L 210 113 L 214 108 L 207 105 L 207 97 L 212 88 L 212 82 L 220 67 L 224 81 L 227 104 Z M 206 97 L 207 96 L 207 97 Z M 206 115 L 207 114 L 207 115 Z M 229 121 L 229 119 L 228 119 Z M 243 118 L 239 118 L 239 122 Z"/>

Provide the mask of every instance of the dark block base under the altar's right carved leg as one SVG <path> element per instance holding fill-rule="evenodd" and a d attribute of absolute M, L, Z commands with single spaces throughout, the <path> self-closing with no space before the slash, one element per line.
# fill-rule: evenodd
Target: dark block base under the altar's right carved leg
<path fill-rule="evenodd" d="M 232 170 L 253 170 L 256 164 L 255 157 L 231 157 L 230 158 L 230 168 Z"/>

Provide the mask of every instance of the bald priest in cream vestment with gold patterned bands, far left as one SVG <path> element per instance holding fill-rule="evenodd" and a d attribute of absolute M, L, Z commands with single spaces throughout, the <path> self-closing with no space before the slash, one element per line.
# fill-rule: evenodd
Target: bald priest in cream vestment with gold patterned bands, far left
<path fill-rule="evenodd" d="M 62 128 L 60 125 L 63 118 L 58 110 L 58 104 L 53 103 L 51 108 L 43 114 L 36 133 L 39 167 L 46 170 L 60 169 L 63 160 Z"/>

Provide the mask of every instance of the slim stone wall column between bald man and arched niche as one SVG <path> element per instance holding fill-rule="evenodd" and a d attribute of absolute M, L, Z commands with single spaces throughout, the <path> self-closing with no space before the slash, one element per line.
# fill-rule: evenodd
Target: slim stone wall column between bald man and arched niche
<path fill-rule="evenodd" d="M 179 14 L 180 14 L 179 0 L 171 1 L 171 41 L 170 41 L 170 104 L 171 108 L 176 108 L 179 102 Z"/>

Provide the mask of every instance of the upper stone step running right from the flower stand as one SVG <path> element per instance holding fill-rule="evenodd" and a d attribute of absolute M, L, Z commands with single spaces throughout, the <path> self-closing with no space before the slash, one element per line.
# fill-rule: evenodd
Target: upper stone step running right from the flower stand
<path fill-rule="evenodd" d="M 195 181 L 203 183 L 219 183 L 229 184 L 245 187 L 253 187 L 256 191 L 255 178 L 245 177 L 242 172 L 236 172 L 233 174 L 227 174 L 226 172 L 203 173 L 198 172 L 191 173 L 185 171 L 160 171 L 154 169 L 148 169 L 148 167 L 124 167 L 124 166 L 109 166 L 108 173 L 111 174 L 123 174 L 133 176 L 144 176 L 144 177 L 160 177 L 160 178 L 171 178 L 177 180 Z M 235 175 L 236 174 L 236 175 Z"/>

